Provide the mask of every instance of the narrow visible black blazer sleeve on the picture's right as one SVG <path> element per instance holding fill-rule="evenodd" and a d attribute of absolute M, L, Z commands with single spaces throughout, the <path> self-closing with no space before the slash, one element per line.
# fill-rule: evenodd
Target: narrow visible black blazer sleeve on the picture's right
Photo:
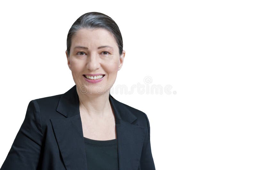
<path fill-rule="evenodd" d="M 156 170 L 155 164 L 154 164 L 154 159 L 152 157 L 152 152 L 151 152 L 151 145 L 150 145 L 150 125 L 148 121 L 147 115 L 144 113 L 147 124 L 148 124 L 148 135 L 147 135 L 147 141 L 143 145 L 142 148 L 142 153 L 141 153 L 141 158 L 140 158 L 140 169 L 141 170 Z"/>

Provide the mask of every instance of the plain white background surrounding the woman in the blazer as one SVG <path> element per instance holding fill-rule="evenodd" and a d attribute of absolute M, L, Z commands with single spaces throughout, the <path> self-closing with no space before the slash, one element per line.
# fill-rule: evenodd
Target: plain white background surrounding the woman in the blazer
<path fill-rule="evenodd" d="M 123 36 L 114 86 L 145 85 L 146 76 L 150 86 L 172 86 L 172 94 L 113 94 L 148 115 L 156 169 L 255 170 L 255 8 L 245 0 L 1 1 L 0 165 L 29 101 L 75 85 L 68 30 L 97 11 Z"/>

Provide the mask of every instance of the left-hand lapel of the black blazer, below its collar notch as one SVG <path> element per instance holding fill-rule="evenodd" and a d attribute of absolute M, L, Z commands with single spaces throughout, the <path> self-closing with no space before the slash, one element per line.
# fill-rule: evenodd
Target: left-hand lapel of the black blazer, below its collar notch
<path fill-rule="evenodd" d="M 80 114 L 50 120 L 66 169 L 87 170 Z"/>

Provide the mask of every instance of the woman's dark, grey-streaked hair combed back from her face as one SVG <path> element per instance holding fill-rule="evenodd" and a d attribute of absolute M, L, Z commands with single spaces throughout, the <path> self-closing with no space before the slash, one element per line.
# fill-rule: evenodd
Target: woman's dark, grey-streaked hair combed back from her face
<path fill-rule="evenodd" d="M 79 17 L 68 31 L 67 52 L 70 55 L 71 39 L 75 33 L 82 28 L 103 28 L 111 32 L 116 40 L 119 54 L 123 52 L 123 39 L 116 22 L 107 15 L 100 12 L 88 12 Z"/>

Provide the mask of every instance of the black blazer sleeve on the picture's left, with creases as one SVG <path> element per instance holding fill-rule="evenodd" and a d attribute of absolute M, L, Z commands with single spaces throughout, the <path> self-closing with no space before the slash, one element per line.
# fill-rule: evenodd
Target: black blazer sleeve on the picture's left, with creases
<path fill-rule="evenodd" d="M 25 119 L 21 124 L 1 170 L 36 170 L 42 145 L 40 108 L 36 100 L 28 103 Z"/>

